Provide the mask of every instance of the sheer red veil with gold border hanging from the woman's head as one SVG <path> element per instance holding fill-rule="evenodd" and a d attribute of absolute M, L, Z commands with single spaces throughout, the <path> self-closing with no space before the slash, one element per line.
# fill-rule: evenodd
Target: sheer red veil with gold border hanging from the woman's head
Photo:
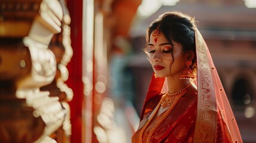
<path fill-rule="evenodd" d="M 215 69 L 214 63 L 209 53 L 209 49 L 202 38 L 201 33 L 195 28 L 196 57 L 197 57 L 197 77 L 198 86 L 198 106 L 194 142 L 215 142 L 217 133 L 217 118 L 224 124 L 229 142 L 242 142 L 238 125 L 227 100 L 221 84 L 220 77 Z M 152 76 L 144 101 L 141 119 L 145 110 L 145 105 L 150 99 L 159 95 L 165 86 L 165 78 L 155 78 Z"/>

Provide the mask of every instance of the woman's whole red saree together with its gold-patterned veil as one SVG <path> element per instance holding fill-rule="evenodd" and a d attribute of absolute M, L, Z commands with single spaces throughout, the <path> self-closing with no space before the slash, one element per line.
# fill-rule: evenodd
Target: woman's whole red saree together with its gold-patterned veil
<path fill-rule="evenodd" d="M 198 92 L 181 97 L 169 112 L 166 110 L 150 120 L 150 114 L 159 108 L 165 85 L 164 78 L 152 76 L 140 126 L 132 142 L 242 142 L 211 54 L 198 29 L 195 29 L 195 38 Z M 146 129 L 141 130 L 146 124 Z"/>

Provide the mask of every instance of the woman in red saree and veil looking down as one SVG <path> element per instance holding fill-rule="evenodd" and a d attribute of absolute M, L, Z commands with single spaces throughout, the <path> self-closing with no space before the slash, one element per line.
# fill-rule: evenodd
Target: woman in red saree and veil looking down
<path fill-rule="evenodd" d="M 155 74 L 132 142 L 242 142 L 194 18 L 164 13 L 150 24 L 146 41 Z"/>

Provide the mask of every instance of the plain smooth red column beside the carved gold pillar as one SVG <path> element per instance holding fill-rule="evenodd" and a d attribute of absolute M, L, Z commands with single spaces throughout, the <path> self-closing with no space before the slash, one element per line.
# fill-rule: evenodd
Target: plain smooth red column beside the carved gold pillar
<path fill-rule="evenodd" d="M 82 0 L 68 1 L 67 8 L 71 17 L 71 45 L 73 48 L 73 57 L 67 65 L 69 70 L 69 79 L 67 85 L 73 90 L 73 100 L 69 102 L 71 110 L 72 135 L 71 142 L 82 142 L 82 101 L 83 83 L 82 83 Z"/>

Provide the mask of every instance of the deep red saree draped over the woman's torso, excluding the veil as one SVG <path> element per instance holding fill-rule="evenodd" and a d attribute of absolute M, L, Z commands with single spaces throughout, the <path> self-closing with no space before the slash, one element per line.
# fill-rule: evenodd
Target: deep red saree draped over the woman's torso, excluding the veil
<path fill-rule="evenodd" d="M 161 95 L 159 96 L 161 97 Z M 159 102 L 159 98 L 153 98 L 146 105 L 147 113 L 144 113 L 143 120 L 140 122 L 140 126 L 143 126 L 144 120 L 147 120 L 149 114 L 152 113 L 156 104 Z M 196 122 L 196 93 L 186 97 L 181 97 L 175 108 L 166 117 L 162 113 L 156 119 L 147 126 L 147 129 L 143 133 L 143 142 L 193 142 L 193 136 L 195 131 Z M 153 130 L 153 127 L 163 120 L 161 125 Z M 147 134 L 153 132 L 152 139 L 147 139 Z M 139 142 L 139 136 L 141 129 L 134 133 L 132 142 Z"/>

